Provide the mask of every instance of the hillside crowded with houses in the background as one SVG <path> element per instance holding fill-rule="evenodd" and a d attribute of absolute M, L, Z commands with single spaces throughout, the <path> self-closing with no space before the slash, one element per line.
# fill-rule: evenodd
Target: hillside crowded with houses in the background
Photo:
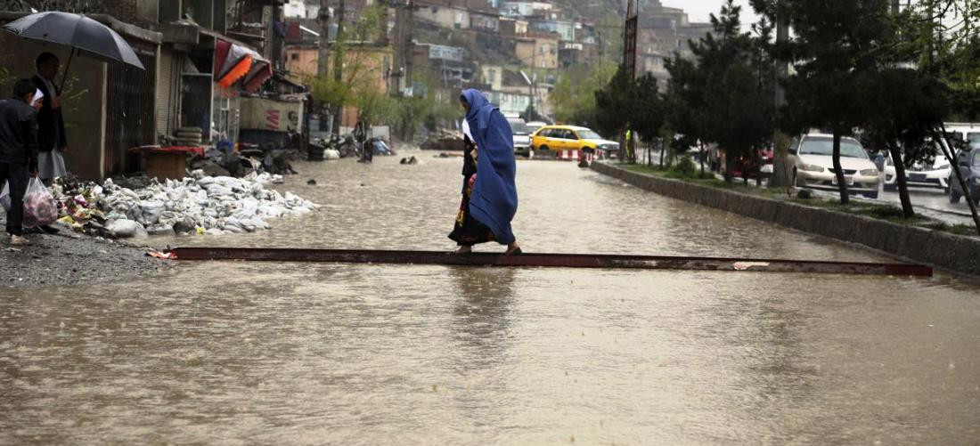
<path fill-rule="evenodd" d="M 345 0 L 344 18 L 352 24 L 374 0 Z M 617 63 L 609 40 L 621 30 L 597 25 L 550 1 L 398 0 L 387 8 L 387 29 L 376 45 L 391 48 L 392 66 L 372 75 L 394 95 L 435 94 L 454 98 L 465 88 L 485 89 L 508 113 L 529 106 L 549 114 L 548 94 L 563 70 L 600 59 Z M 340 0 L 289 0 L 286 66 L 312 74 L 319 66 L 321 42 L 336 36 Z M 647 0 L 641 9 L 638 71 L 665 78 L 664 60 L 688 54 L 688 40 L 710 29 L 689 23 L 683 10 Z M 321 38 L 323 35 L 325 38 Z M 603 41 L 605 35 L 606 42 Z M 360 42 L 366 43 L 366 42 Z M 604 43 L 606 44 L 604 51 Z M 344 123 L 349 117 L 343 119 Z"/>

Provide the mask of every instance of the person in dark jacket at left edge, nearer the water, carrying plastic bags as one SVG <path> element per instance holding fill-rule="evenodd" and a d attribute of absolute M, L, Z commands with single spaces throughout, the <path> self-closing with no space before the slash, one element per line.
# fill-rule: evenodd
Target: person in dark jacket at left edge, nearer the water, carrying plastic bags
<path fill-rule="evenodd" d="M 37 175 L 37 111 L 30 106 L 37 88 L 30 80 L 14 84 L 14 97 L 0 101 L 0 187 L 10 187 L 7 233 L 14 245 L 24 238 L 24 193 L 27 179 Z"/>

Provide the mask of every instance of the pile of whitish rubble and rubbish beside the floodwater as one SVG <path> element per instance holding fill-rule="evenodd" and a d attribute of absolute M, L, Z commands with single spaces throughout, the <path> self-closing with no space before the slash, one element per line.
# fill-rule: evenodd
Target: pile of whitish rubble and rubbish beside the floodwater
<path fill-rule="evenodd" d="M 268 229 L 267 221 L 307 214 L 318 206 L 291 192 L 267 189 L 280 175 L 250 173 L 243 178 L 194 171 L 180 180 L 148 180 L 130 189 L 107 179 L 59 181 L 53 187 L 60 223 L 106 238 L 145 235 L 224 234 Z"/>

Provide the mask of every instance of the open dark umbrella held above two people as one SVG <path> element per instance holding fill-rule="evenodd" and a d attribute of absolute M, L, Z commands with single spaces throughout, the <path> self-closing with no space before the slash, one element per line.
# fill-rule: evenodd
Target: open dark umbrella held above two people
<path fill-rule="evenodd" d="M 75 52 L 105 62 L 122 62 L 146 70 L 123 37 L 109 26 L 85 16 L 59 12 L 37 13 L 3 25 L 3 29 L 27 39 L 71 46 L 72 53 L 65 67 L 65 77 L 62 78 L 63 88 Z"/>

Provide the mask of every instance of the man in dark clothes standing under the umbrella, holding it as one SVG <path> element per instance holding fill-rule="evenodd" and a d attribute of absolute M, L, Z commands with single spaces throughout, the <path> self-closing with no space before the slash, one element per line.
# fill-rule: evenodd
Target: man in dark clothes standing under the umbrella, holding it
<path fill-rule="evenodd" d="M 36 66 L 37 75 L 32 80 L 44 94 L 43 105 L 37 113 L 37 145 L 40 151 L 37 165 L 41 180 L 51 185 L 54 178 L 67 173 L 62 154 L 68 150 L 68 138 L 62 116 L 61 89 L 55 84 L 61 62 L 54 54 L 45 52 L 37 57 Z"/>

